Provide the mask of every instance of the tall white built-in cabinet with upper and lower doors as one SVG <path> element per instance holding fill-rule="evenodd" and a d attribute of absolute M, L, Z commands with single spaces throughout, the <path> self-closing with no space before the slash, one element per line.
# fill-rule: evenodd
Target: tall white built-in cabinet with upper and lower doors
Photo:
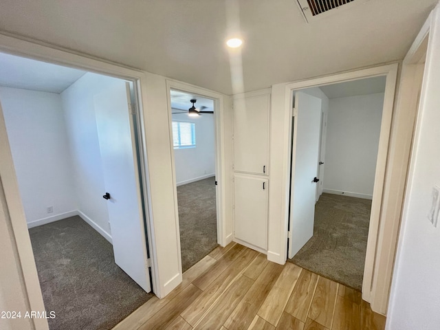
<path fill-rule="evenodd" d="M 267 251 L 270 90 L 234 96 L 234 240 Z"/>

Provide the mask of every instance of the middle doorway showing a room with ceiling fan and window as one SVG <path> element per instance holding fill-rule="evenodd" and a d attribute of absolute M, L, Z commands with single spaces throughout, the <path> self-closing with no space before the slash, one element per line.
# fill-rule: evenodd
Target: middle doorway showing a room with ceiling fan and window
<path fill-rule="evenodd" d="M 182 272 L 218 246 L 214 100 L 170 89 Z"/>

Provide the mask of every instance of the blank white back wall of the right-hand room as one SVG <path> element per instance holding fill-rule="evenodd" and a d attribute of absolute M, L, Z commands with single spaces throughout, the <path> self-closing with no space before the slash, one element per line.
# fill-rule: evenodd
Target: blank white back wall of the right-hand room
<path fill-rule="evenodd" d="M 384 94 L 329 100 L 324 192 L 373 198 Z"/>

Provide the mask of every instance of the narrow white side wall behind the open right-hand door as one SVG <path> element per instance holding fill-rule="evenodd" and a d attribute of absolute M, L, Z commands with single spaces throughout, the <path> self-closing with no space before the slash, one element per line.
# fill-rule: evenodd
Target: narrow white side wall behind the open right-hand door
<path fill-rule="evenodd" d="M 325 181 L 325 147 L 327 144 L 327 126 L 325 122 L 327 122 L 327 115 L 329 114 L 329 98 L 325 95 L 319 87 L 311 87 L 306 89 L 300 89 L 305 94 L 309 94 L 311 96 L 315 96 L 316 98 L 321 99 L 321 113 L 322 113 L 322 121 L 321 121 L 321 142 L 320 142 L 320 162 L 324 162 L 318 167 L 318 179 L 320 179 L 318 183 L 318 196 L 322 195 L 322 190 L 324 189 L 324 181 Z"/>

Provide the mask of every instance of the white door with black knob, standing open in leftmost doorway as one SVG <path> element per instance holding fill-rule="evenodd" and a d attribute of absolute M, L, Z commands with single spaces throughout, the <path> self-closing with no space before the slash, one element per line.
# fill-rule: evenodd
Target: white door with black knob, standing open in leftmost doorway
<path fill-rule="evenodd" d="M 150 292 L 129 83 L 97 94 L 94 104 L 115 263 Z"/>

